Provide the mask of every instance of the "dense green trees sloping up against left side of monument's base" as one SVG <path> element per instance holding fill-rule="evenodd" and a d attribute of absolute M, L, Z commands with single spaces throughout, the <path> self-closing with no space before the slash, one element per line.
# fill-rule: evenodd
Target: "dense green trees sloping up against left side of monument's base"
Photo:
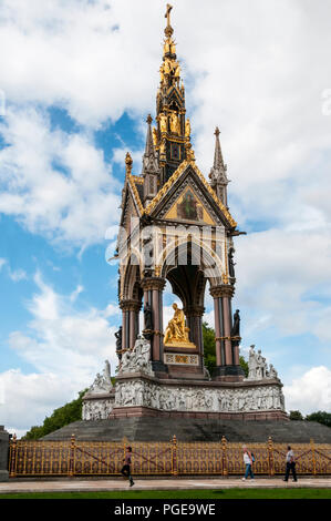
<path fill-rule="evenodd" d="M 73 421 L 82 419 L 83 396 L 87 389 L 81 391 L 79 397 L 63 407 L 59 407 L 50 417 L 45 417 L 42 426 L 33 426 L 22 438 L 25 440 L 38 440 L 43 436 L 61 429 Z"/>

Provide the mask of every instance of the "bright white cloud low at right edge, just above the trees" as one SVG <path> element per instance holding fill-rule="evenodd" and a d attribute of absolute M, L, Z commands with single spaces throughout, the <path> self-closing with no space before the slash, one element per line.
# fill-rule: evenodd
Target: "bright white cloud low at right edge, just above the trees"
<path fill-rule="evenodd" d="M 285 386 L 283 394 L 288 411 L 300 410 L 303 415 L 318 410 L 330 412 L 331 370 L 324 366 L 313 367 Z"/>

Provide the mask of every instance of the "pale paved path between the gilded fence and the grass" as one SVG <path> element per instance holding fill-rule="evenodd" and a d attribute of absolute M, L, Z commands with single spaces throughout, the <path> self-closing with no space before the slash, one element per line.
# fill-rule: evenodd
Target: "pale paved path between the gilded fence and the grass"
<path fill-rule="evenodd" d="M 231 489 L 231 488 L 331 488 L 331 478 L 301 478 L 293 483 L 285 483 L 282 478 L 257 478 L 242 481 L 240 478 L 169 478 L 169 479 L 135 479 L 131 490 L 192 490 L 192 489 Z M 8 481 L 0 483 L 1 493 L 14 492 L 87 492 L 128 490 L 127 481 L 122 479 L 59 479 L 45 481 Z"/>

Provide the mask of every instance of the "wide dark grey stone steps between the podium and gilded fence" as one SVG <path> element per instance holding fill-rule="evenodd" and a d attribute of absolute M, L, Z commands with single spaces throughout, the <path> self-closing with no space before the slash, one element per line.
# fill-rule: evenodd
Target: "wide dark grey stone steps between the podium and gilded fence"
<path fill-rule="evenodd" d="M 314 421 L 241 421 L 188 418 L 118 418 L 115 420 L 75 421 L 42 438 L 68 440 L 75 435 L 84 441 L 178 441 L 265 442 L 271 436 L 276 442 L 331 443 L 331 429 Z"/>

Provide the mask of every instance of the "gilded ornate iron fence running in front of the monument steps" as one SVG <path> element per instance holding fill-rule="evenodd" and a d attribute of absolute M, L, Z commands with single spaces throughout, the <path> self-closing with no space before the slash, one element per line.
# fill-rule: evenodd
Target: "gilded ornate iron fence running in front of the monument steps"
<path fill-rule="evenodd" d="M 235 476 L 244 474 L 242 443 L 182 442 L 174 436 L 168 442 L 11 440 L 9 473 L 31 476 L 120 476 L 125 448 L 133 448 L 134 476 Z M 298 474 L 331 474 L 331 445 L 293 443 Z M 287 445 L 249 443 L 255 453 L 254 472 L 283 474 Z"/>

